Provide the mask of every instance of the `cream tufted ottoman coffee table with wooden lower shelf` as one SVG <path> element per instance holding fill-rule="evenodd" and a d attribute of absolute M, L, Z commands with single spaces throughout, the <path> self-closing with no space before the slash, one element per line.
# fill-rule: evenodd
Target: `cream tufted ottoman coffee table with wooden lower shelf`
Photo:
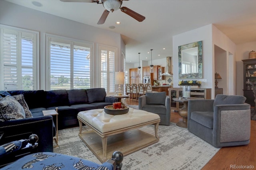
<path fill-rule="evenodd" d="M 124 156 L 159 141 L 157 131 L 160 117 L 147 111 L 129 108 L 124 115 L 109 115 L 104 109 L 78 113 L 79 136 L 101 162 L 110 159 L 116 150 Z M 82 132 L 82 123 L 92 130 Z M 154 134 L 138 128 L 154 124 Z"/>

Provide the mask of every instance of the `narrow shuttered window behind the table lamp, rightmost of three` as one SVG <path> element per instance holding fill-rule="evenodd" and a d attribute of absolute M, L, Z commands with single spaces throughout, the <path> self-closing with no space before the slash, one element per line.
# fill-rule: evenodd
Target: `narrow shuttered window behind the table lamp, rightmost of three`
<path fill-rule="evenodd" d="M 115 61 L 116 51 L 114 47 L 99 45 L 101 87 L 106 89 L 107 94 L 115 92 Z"/>

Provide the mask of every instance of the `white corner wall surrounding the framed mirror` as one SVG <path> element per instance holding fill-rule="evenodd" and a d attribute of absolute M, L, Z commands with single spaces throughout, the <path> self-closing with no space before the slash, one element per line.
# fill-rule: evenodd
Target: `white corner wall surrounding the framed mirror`
<path fill-rule="evenodd" d="M 174 78 L 174 87 L 178 87 L 178 46 L 203 41 L 203 79 L 206 79 L 207 83 L 202 83 L 202 88 L 211 88 L 212 89 L 212 99 L 214 99 L 214 45 L 224 49 L 226 52 L 226 63 L 233 62 L 230 57 L 234 57 L 232 54 L 235 53 L 236 45 L 220 30 L 218 30 L 214 25 L 210 24 L 184 32 L 173 36 L 173 78 Z M 230 60 L 230 61 L 229 61 Z M 233 64 L 234 65 L 234 64 Z M 234 84 L 236 74 L 232 71 L 234 67 L 229 68 L 229 64 L 226 64 L 226 75 L 232 76 L 233 79 L 229 79 L 226 91 L 230 91 L 228 88 L 234 88 L 234 86 L 228 86 L 228 84 Z M 232 90 L 231 90 L 232 91 Z M 226 92 L 228 93 L 228 92 Z"/>

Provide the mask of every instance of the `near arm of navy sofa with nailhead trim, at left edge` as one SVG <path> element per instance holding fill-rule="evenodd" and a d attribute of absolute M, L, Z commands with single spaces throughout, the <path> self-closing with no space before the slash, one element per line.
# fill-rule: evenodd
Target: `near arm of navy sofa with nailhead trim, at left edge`
<path fill-rule="evenodd" d="M 2 134 L 0 144 L 37 134 L 38 152 L 53 152 L 52 116 L 5 121 L 0 124 L 0 133 Z"/>

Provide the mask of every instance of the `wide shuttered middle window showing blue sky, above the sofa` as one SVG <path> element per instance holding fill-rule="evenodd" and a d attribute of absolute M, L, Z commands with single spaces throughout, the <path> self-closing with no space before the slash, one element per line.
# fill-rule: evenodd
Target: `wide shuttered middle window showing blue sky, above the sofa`
<path fill-rule="evenodd" d="M 56 89 L 89 89 L 93 43 L 46 35 L 48 86 Z"/>

